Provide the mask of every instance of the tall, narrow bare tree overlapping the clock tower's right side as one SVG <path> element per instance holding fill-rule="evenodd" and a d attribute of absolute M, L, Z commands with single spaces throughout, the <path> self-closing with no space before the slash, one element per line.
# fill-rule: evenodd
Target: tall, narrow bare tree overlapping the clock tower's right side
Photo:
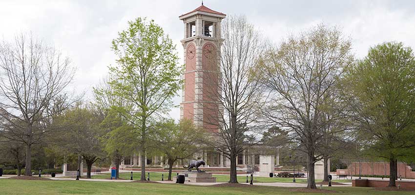
<path fill-rule="evenodd" d="M 209 135 L 213 132 L 213 137 L 206 143 L 230 159 L 229 182 L 237 183 L 236 157 L 259 141 L 255 135 L 255 116 L 260 110 L 257 102 L 261 99 L 262 86 L 254 78 L 258 56 L 265 44 L 244 16 L 230 16 L 222 21 L 221 34 L 224 40 L 218 69 L 203 73 L 208 84 L 204 88 L 210 92 L 204 109 L 215 115 L 204 117 L 208 124 L 205 128 L 214 129 L 208 131 Z M 212 61 L 218 64 L 215 62 Z"/>

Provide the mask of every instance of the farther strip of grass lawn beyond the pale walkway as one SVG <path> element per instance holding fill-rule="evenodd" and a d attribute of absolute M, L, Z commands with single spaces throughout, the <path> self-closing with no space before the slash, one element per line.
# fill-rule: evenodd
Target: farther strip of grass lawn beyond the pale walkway
<path fill-rule="evenodd" d="M 150 180 L 153 181 L 161 181 L 162 180 L 162 174 L 164 174 L 164 179 L 167 180 L 168 173 L 155 173 L 150 172 Z M 130 179 L 130 173 L 120 173 L 120 178 L 122 179 Z M 133 179 L 138 180 L 140 179 L 141 173 L 134 172 L 133 173 Z M 172 177 L 176 176 L 176 173 L 172 173 Z M 225 175 L 213 175 L 216 177 L 216 182 L 228 182 L 229 176 Z M 110 178 L 110 174 L 102 174 L 102 175 L 96 175 L 92 176 L 93 179 L 106 179 Z M 147 178 L 147 176 L 145 176 Z M 250 178 L 248 178 L 250 179 Z M 305 178 L 298 178 L 295 179 L 297 183 L 307 183 L 307 179 Z M 316 182 L 320 182 L 321 180 L 316 180 Z M 334 182 L 352 182 L 350 179 L 338 179 L 333 180 Z M 238 182 L 243 183 L 247 182 L 247 176 L 238 176 Z M 253 182 L 292 182 L 292 178 L 279 178 L 279 177 L 256 177 L 254 176 Z"/>

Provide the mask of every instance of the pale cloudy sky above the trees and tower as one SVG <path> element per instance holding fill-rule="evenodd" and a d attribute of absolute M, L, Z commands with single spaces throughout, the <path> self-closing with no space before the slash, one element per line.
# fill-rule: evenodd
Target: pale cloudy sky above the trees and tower
<path fill-rule="evenodd" d="M 200 4 L 200 0 L 0 0 L 0 37 L 10 40 L 31 31 L 54 44 L 77 67 L 72 87 L 90 97 L 107 66 L 114 64 L 110 43 L 127 28 L 127 21 L 155 20 L 182 57 L 184 32 L 178 17 Z M 414 0 L 204 0 L 204 5 L 227 15 L 246 15 L 275 43 L 323 22 L 338 26 L 353 40 L 358 58 L 385 41 L 415 48 Z M 175 108 L 170 115 L 178 118 L 179 113 Z"/>

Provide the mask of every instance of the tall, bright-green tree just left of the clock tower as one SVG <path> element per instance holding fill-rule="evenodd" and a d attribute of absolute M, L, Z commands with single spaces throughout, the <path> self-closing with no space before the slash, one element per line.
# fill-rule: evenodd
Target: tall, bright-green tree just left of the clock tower
<path fill-rule="evenodd" d="M 117 66 L 111 66 L 109 85 L 128 106 L 118 112 L 133 127 L 141 152 L 141 180 L 145 180 L 145 154 L 154 121 L 167 114 L 172 98 L 182 88 L 183 66 L 178 65 L 175 45 L 163 29 L 138 18 L 112 41 Z"/>

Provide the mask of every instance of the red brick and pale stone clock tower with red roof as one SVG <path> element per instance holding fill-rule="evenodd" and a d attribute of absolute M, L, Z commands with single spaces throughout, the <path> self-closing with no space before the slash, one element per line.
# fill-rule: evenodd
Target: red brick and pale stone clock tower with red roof
<path fill-rule="evenodd" d="M 183 75 L 180 117 L 188 118 L 197 127 L 218 131 L 219 106 L 217 104 L 218 67 L 220 60 L 221 21 L 225 14 L 202 5 L 179 17 L 184 22 Z"/>

